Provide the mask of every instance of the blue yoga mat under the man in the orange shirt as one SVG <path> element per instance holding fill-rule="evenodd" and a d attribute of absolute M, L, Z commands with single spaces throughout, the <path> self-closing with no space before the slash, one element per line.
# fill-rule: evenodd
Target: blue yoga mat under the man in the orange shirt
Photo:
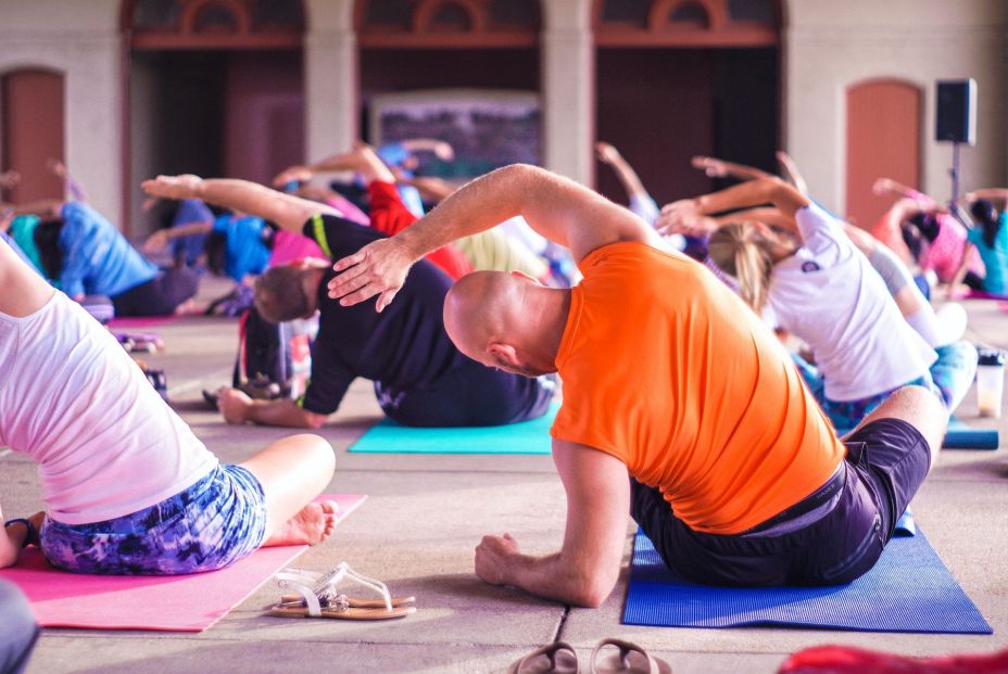
<path fill-rule="evenodd" d="M 768 588 L 688 583 L 638 532 L 622 622 L 656 627 L 773 625 L 993 634 L 919 529 L 915 536 L 891 539 L 875 567 L 848 585 Z"/>

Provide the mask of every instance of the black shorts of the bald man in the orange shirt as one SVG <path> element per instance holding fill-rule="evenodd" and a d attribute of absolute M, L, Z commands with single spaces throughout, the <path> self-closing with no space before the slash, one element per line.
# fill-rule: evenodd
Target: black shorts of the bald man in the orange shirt
<path fill-rule="evenodd" d="M 899 419 L 866 424 L 844 443 L 835 506 L 796 531 L 696 532 L 662 493 L 631 480 L 631 513 L 665 563 L 695 583 L 733 586 L 834 585 L 871 569 L 931 466 L 928 441 Z M 789 509 L 790 510 L 790 509 Z M 776 520 L 776 518 L 774 518 Z"/>

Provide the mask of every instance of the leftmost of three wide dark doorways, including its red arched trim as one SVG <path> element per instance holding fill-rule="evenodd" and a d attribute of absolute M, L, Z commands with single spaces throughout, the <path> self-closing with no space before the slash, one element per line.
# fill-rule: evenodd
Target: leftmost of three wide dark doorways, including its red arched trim
<path fill-rule="evenodd" d="M 125 0 L 133 233 L 159 173 L 266 182 L 304 155 L 301 0 Z"/>

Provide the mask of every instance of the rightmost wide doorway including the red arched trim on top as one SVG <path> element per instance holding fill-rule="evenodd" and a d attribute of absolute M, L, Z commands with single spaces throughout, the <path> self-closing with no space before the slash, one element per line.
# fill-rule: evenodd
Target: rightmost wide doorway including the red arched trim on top
<path fill-rule="evenodd" d="M 774 0 L 595 0 L 595 133 L 659 205 L 715 187 L 697 154 L 777 170 L 780 7 Z M 597 189 L 626 193 L 610 170 Z"/>

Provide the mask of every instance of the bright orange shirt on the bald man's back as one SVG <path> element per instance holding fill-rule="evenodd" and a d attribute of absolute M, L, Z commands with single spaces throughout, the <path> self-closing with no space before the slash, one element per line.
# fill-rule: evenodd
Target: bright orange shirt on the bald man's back
<path fill-rule="evenodd" d="M 765 521 L 833 473 L 843 447 L 786 353 L 702 265 L 621 243 L 580 267 L 554 437 L 620 458 L 678 518 L 717 534 Z"/>

